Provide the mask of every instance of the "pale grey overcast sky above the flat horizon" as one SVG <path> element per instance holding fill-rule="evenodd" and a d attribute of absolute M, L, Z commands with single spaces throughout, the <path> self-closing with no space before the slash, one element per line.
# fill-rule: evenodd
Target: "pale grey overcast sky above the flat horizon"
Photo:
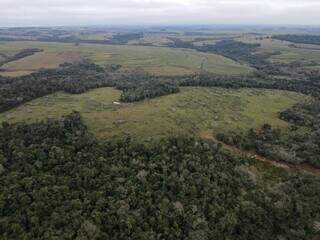
<path fill-rule="evenodd" d="M 320 0 L 0 0 L 0 26 L 320 25 Z"/>

